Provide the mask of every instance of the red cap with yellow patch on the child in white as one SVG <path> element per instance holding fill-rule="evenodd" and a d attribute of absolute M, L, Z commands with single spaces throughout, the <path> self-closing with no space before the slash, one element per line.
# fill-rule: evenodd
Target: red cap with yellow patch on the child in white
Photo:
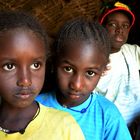
<path fill-rule="evenodd" d="M 104 22 L 105 18 L 109 14 L 111 14 L 115 11 L 124 11 L 128 15 L 128 17 L 130 19 L 130 22 L 131 22 L 131 25 L 130 25 L 130 28 L 131 28 L 132 25 L 135 22 L 135 15 L 131 12 L 131 10 L 129 9 L 129 7 L 127 5 L 125 5 L 123 3 L 120 3 L 120 2 L 116 2 L 114 4 L 113 8 L 108 8 L 108 9 L 105 10 L 105 12 L 101 15 L 101 18 L 100 18 L 100 21 L 99 21 L 100 24 L 102 24 Z"/>

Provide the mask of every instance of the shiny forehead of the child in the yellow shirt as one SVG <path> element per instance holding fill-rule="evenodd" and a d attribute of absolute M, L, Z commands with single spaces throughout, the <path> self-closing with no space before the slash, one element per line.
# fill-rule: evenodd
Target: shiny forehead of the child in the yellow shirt
<path fill-rule="evenodd" d="M 0 33 L 0 54 L 45 52 L 45 44 L 31 30 L 12 29 Z"/>

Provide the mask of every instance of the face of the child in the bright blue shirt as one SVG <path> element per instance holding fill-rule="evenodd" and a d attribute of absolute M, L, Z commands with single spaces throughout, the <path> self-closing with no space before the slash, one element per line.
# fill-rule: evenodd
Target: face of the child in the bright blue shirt
<path fill-rule="evenodd" d="M 57 65 L 57 82 L 66 105 L 84 102 L 96 87 L 106 57 L 94 43 L 75 41 L 65 46 Z"/>

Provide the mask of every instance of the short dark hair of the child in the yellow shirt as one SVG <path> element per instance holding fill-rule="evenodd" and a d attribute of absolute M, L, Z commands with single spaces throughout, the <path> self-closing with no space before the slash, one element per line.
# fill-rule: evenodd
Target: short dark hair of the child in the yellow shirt
<path fill-rule="evenodd" d="M 33 31 L 44 41 L 45 47 L 48 49 L 48 35 L 43 28 L 43 25 L 40 24 L 35 16 L 23 11 L 0 11 L 0 33 L 15 28 L 23 28 Z"/>

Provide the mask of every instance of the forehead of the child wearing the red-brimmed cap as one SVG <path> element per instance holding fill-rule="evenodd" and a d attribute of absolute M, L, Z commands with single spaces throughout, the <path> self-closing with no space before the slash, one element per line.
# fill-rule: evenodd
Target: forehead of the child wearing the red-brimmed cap
<path fill-rule="evenodd" d="M 107 16 L 107 21 L 122 21 L 130 23 L 129 17 L 124 12 L 113 12 Z"/>

